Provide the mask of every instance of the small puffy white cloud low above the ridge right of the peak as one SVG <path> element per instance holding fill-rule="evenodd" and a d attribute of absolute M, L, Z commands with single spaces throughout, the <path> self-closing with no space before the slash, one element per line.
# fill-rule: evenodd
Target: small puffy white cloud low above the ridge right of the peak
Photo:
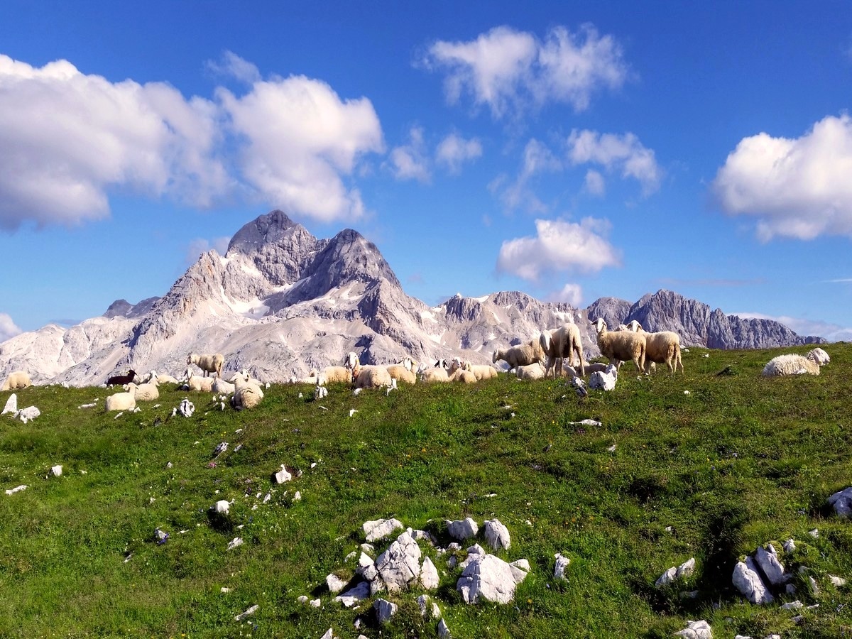
<path fill-rule="evenodd" d="M 609 244 L 609 222 L 586 217 L 581 222 L 536 220 L 536 236 L 510 239 L 500 247 L 497 270 L 538 281 L 541 273 L 596 273 L 619 266 L 619 251 Z"/>

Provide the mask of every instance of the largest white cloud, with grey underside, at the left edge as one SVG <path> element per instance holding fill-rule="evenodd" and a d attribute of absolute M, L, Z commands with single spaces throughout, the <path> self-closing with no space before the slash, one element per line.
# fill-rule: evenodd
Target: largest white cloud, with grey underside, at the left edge
<path fill-rule="evenodd" d="M 168 84 L 0 55 L 0 227 L 106 217 L 112 189 L 208 205 L 228 186 L 217 135 L 216 107 Z"/>

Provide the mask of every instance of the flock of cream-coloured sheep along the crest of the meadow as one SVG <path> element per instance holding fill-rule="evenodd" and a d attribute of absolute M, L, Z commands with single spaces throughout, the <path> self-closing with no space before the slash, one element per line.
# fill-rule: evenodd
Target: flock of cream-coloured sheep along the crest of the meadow
<path fill-rule="evenodd" d="M 592 322 L 597 334 L 597 346 L 609 364 L 584 361 L 583 345 L 579 327 L 567 322 L 553 330 L 541 331 L 538 339 L 509 348 L 498 348 L 492 355 L 492 363 L 504 361 L 509 373 L 514 371 L 520 379 L 540 379 L 548 376 L 579 378 L 586 374 L 605 372 L 615 367 L 617 371 L 625 361 L 632 361 L 637 371 L 650 374 L 657 364 L 668 367 L 671 374 L 683 371 L 681 361 L 681 339 L 674 331 L 648 332 L 636 320 L 619 325 L 614 331 L 607 330 L 607 323 L 598 319 Z M 576 364 L 575 364 L 576 359 Z M 822 348 L 814 348 L 807 355 L 783 354 L 769 360 L 763 368 L 763 377 L 811 374 L 819 375 L 820 366 L 830 358 Z M 124 391 L 107 397 L 107 411 L 134 410 L 137 401 L 158 399 L 158 385 L 171 383 L 182 389 L 215 393 L 222 398 L 230 395 L 230 404 L 237 410 L 257 406 L 263 399 L 262 384 L 253 379 L 248 371 L 233 374 L 230 380 L 222 377 L 225 358 L 222 354 L 191 353 L 187 357 L 187 370 L 181 380 L 170 375 L 151 371 L 140 379 L 135 371 L 107 379 L 107 386 L 123 386 Z M 193 372 L 197 366 L 203 375 Z M 213 374 L 216 377 L 213 377 Z M 396 364 L 363 365 L 355 353 L 348 353 L 342 366 L 326 366 L 321 371 L 311 371 L 308 377 L 292 377 L 291 383 L 309 383 L 318 389 L 328 383 L 350 384 L 355 392 L 360 389 L 397 388 L 400 383 L 477 383 L 483 379 L 497 377 L 494 366 L 474 365 L 458 357 L 447 362 L 438 360 L 434 366 L 418 366 L 411 357 Z M 25 389 L 32 384 L 26 371 L 14 371 L 6 378 L 0 391 Z M 224 403 L 222 404 L 224 406 Z"/>

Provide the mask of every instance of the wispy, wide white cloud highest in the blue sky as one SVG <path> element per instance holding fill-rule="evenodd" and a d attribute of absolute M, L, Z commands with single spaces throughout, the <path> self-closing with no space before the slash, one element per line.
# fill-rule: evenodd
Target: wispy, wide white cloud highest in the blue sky
<path fill-rule="evenodd" d="M 539 40 L 532 33 L 497 26 L 468 42 L 438 41 L 423 63 L 446 70 L 447 101 L 469 94 L 494 118 L 547 102 L 589 107 L 601 89 L 618 89 L 628 77 L 621 46 L 594 26 L 570 32 L 556 26 Z"/>

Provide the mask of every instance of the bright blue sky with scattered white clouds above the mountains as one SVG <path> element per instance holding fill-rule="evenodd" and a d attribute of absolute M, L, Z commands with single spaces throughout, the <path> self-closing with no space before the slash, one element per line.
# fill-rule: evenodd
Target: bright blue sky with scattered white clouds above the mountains
<path fill-rule="evenodd" d="M 665 288 L 852 337 L 850 3 L 410 4 L 7 0 L 0 341 L 275 208 L 429 304 Z"/>

